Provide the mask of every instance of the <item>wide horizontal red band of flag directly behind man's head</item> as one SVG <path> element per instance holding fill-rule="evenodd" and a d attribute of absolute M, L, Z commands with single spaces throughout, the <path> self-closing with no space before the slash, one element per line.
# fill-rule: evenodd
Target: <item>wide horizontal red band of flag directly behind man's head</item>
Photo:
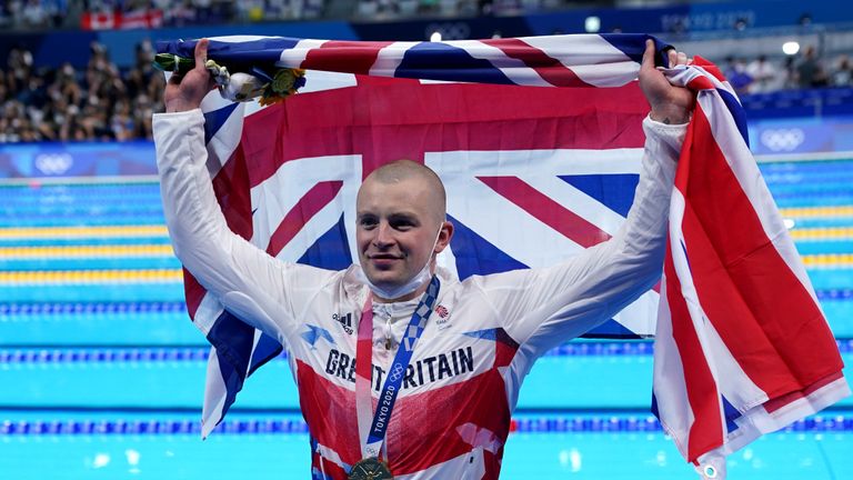
<path fill-rule="evenodd" d="M 424 152 L 642 148 L 648 113 L 636 82 L 558 89 L 359 77 L 358 87 L 300 93 L 247 117 L 241 148 L 257 186 L 287 161 L 323 156 L 359 154 L 367 176 Z"/>

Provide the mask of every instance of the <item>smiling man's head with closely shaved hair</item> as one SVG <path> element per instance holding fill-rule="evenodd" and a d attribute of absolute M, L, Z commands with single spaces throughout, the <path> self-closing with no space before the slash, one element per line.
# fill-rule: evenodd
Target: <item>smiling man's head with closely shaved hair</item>
<path fill-rule="evenodd" d="M 453 226 L 444 221 L 441 181 L 428 168 L 408 160 L 371 173 L 359 189 L 355 209 L 361 267 L 382 288 L 405 284 L 433 260 L 433 252 L 446 247 L 453 232 Z M 404 298 L 384 300 L 408 300 L 425 287 Z"/>

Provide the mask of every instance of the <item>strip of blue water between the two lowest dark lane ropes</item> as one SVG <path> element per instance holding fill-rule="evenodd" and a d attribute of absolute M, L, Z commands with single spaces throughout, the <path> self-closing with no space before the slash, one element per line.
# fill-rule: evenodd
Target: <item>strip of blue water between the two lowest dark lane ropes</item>
<path fill-rule="evenodd" d="M 198 353 L 191 352 L 195 357 L 187 360 L 157 359 L 159 351 L 153 348 L 106 350 L 109 358 L 130 353 L 134 360 L 8 361 L 0 364 L 0 374 L 16 387 L 0 391 L 0 406 L 192 409 L 201 398 L 207 368 L 202 357 L 207 349 L 193 350 Z M 0 350 L 0 357 L 2 353 Z M 842 358 L 845 374 L 853 378 L 853 354 Z M 651 384 L 651 354 L 546 356 L 524 380 L 518 408 L 648 410 Z M 251 386 L 240 394 L 241 408 L 299 409 L 297 387 L 284 360 L 258 370 Z M 837 406 L 853 408 L 853 398 Z"/>

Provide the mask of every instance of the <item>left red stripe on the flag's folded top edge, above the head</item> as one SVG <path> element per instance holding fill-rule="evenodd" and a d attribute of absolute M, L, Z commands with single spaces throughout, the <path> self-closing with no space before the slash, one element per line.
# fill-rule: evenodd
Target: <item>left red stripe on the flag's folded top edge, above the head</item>
<path fill-rule="evenodd" d="M 349 73 L 370 72 L 379 51 L 391 42 L 328 41 L 311 49 L 302 61 L 303 69 Z"/>

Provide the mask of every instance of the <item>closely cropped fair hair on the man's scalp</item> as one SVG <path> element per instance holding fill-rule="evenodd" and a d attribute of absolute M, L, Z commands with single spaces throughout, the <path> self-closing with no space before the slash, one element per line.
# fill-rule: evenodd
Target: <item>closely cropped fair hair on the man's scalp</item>
<path fill-rule="evenodd" d="M 359 197 L 361 197 L 364 186 L 369 182 L 395 184 L 404 181 L 414 181 L 423 186 L 426 192 L 425 198 L 423 198 L 426 202 L 424 207 L 429 209 L 430 217 L 439 222 L 444 221 L 448 204 L 444 184 L 432 169 L 412 160 L 397 160 L 373 170 L 364 179 L 362 188 L 359 189 Z"/>

